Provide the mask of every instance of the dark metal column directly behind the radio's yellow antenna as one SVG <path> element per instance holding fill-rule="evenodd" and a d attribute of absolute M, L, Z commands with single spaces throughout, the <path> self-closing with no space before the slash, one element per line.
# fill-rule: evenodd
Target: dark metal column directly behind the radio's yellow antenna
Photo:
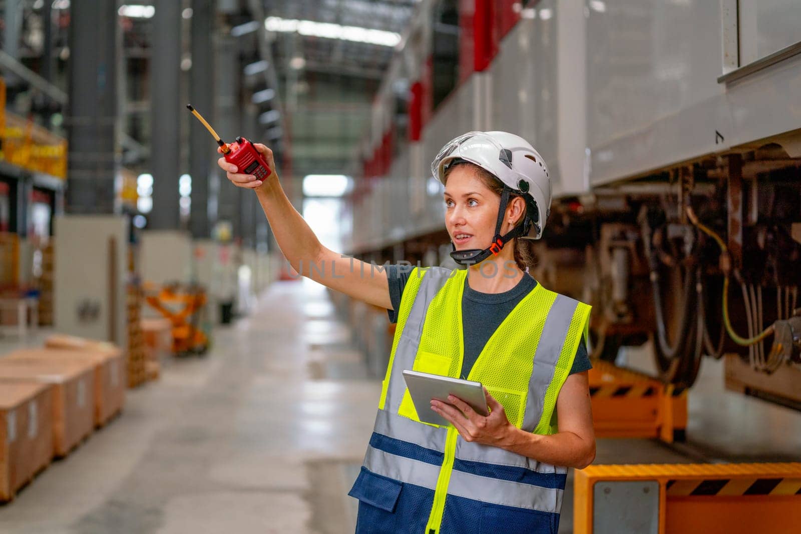
<path fill-rule="evenodd" d="M 189 99 L 202 114 L 213 118 L 214 94 L 212 81 L 213 49 L 211 33 L 214 28 L 211 0 L 192 0 L 191 50 L 192 68 L 189 73 Z M 208 239 L 211 235 L 209 214 L 209 181 L 217 145 L 206 129 L 194 118 L 189 126 L 189 175 L 192 177 L 192 207 L 189 219 L 192 237 Z"/>

